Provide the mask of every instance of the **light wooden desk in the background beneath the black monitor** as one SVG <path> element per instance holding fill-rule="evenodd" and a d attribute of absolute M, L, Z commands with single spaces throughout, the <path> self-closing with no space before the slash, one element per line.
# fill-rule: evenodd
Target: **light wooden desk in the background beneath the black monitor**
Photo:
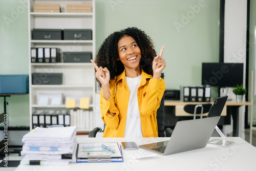
<path fill-rule="evenodd" d="M 192 116 L 191 114 L 186 114 L 185 111 L 181 112 L 182 109 L 186 104 L 206 104 L 212 103 L 211 102 L 183 102 L 180 100 L 164 100 L 165 106 L 175 106 L 175 110 L 177 109 L 178 112 L 175 111 L 175 116 Z M 236 100 L 227 101 L 221 116 L 226 116 L 227 114 L 231 114 L 233 119 L 233 137 L 238 137 L 239 133 L 239 108 L 242 105 L 251 105 L 251 102 L 244 101 L 241 103 L 236 102 Z M 200 115 L 200 114 L 199 114 Z M 204 114 L 203 116 L 207 116 Z"/>

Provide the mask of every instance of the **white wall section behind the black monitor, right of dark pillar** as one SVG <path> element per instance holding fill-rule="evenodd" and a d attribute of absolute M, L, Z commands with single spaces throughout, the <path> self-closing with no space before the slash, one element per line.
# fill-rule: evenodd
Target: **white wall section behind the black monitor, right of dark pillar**
<path fill-rule="evenodd" d="M 246 68 L 246 21 L 247 0 L 225 0 L 224 62 L 244 63 L 244 85 Z M 236 98 L 232 93 L 232 89 L 229 89 L 228 96 Z M 245 107 L 240 108 L 239 137 L 243 139 L 245 139 L 244 113 Z M 232 132 L 232 125 L 225 126 L 223 132 L 224 134 Z"/>

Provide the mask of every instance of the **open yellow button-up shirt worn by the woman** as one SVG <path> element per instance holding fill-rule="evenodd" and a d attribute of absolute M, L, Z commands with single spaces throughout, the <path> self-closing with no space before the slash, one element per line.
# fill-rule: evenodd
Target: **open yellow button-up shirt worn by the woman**
<path fill-rule="evenodd" d="M 153 79 L 141 69 L 138 88 L 138 105 L 143 137 L 158 137 L 157 109 L 165 90 L 162 78 Z M 130 91 L 125 80 L 125 70 L 110 81 L 110 98 L 106 100 L 100 93 L 101 118 L 106 124 L 103 137 L 123 137 Z M 116 113 L 111 116 L 108 111 Z"/>

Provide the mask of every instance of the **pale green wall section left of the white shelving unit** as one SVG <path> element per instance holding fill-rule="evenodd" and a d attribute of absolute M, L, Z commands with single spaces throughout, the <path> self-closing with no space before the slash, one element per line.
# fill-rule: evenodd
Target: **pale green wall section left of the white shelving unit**
<path fill-rule="evenodd" d="M 0 0 L 0 74 L 28 74 L 28 7 Z M 29 95 L 7 97 L 8 126 L 29 126 Z M 0 97 L 0 113 L 4 97 Z M 3 124 L 3 123 L 2 123 Z"/>

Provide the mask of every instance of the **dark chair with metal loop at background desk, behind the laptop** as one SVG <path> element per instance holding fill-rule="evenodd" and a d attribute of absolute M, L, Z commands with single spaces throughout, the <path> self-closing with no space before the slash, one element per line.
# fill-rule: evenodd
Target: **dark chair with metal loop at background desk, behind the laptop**
<path fill-rule="evenodd" d="M 202 119 L 203 114 L 209 112 L 211 104 L 187 104 L 184 106 L 184 111 L 189 114 L 194 114 L 194 119 L 196 119 L 196 114 L 201 114 Z M 200 110 L 201 108 L 201 110 Z"/>

